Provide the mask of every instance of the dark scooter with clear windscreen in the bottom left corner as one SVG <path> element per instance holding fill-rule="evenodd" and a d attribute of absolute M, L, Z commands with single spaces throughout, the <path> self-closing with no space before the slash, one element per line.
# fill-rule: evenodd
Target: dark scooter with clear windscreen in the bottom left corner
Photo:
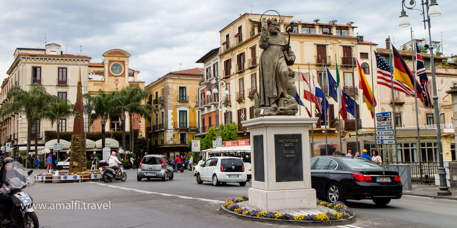
<path fill-rule="evenodd" d="M 6 158 L 7 160 L 9 158 Z M 2 162 L 2 172 L 5 176 L 5 182 L 2 186 L 3 191 L 0 194 L 8 194 L 12 201 L 10 218 L 2 218 L 1 227 L 39 227 L 38 217 L 35 209 L 32 207 L 33 199 L 27 192 L 23 191 L 25 187 L 35 185 L 30 180 L 29 175 L 32 170 L 26 172 L 24 167 L 18 162 Z M 11 159 L 12 160 L 12 159 Z M 4 170 L 3 170 L 4 169 Z M 3 178 L 3 177 L 2 177 Z M 6 205 L 2 205 L 5 207 Z M 5 208 L 3 208 L 5 210 Z M 0 217 L 1 218 L 1 217 Z"/>

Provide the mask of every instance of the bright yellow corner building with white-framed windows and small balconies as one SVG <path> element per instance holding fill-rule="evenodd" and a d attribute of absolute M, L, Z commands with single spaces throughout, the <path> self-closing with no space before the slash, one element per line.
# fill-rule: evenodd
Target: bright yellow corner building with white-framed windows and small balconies
<path fill-rule="evenodd" d="M 203 69 L 193 68 L 167 73 L 146 86 L 154 107 L 148 126 L 148 138 L 154 154 L 174 158 L 187 153 L 187 140 L 198 133 L 200 123 L 195 104 Z"/>

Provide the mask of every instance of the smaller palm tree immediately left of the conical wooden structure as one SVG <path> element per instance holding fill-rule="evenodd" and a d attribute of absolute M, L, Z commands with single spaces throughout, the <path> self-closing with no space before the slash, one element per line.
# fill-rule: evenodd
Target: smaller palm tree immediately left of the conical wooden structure
<path fill-rule="evenodd" d="M 52 96 L 52 102 L 45 108 L 44 118 L 51 121 L 51 125 L 57 124 L 57 143 L 60 143 L 60 119 L 73 116 L 75 105 L 67 99 Z"/>

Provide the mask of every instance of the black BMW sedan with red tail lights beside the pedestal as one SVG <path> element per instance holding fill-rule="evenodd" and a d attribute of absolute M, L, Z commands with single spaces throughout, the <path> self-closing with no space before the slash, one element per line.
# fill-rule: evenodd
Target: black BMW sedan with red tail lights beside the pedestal
<path fill-rule="evenodd" d="M 367 159 L 318 156 L 310 164 L 312 188 L 328 202 L 371 199 L 385 206 L 402 197 L 398 172 Z"/>

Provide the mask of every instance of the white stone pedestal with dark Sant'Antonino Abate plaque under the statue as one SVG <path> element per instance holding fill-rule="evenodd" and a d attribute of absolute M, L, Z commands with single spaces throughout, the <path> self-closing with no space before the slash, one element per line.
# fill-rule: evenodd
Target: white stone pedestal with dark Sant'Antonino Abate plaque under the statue
<path fill-rule="evenodd" d="M 242 122 L 251 135 L 249 205 L 267 211 L 316 208 L 308 133 L 316 121 L 317 118 L 267 116 Z"/>

